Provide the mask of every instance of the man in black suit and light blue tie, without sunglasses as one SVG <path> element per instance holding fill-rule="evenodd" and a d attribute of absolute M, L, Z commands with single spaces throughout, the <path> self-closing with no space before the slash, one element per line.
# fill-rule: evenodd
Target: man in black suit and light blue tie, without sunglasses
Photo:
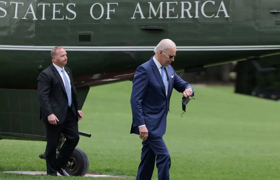
<path fill-rule="evenodd" d="M 38 95 L 41 104 L 40 118 L 46 128 L 46 165 L 47 174 L 69 176 L 65 167 L 79 142 L 78 120 L 83 112 L 77 100 L 72 72 L 67 64 L 67 53 L 63 47 L 51 50 L 53 64 L 43 70 L 38 77 Z M 60 134 L 66 141 L 56 158 Z"/>

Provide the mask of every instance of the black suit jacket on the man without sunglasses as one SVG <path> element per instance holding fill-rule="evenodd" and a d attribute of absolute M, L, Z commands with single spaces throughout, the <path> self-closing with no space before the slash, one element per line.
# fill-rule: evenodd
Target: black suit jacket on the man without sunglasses
<path fill-rule="evenodd" d="M 64 66 L 65 72 L 68 74 L 71 83 L 72 93 L 72 107 L 76 114 L 76 120 L 78 121 L 78 110 L 81 110 L 79 105 L 76 89 L 74 87 L 72 71 L 70 68 Z M 55 114 L 61 124 L 67 114 L 68 98 L 66 90 L 60 74 L 53 64 L 43 70 L 38 77 L 38 95 L 39 102 L 41 104 L 40 119 L 43 122 L 48 123 L 48 116 Z"/>

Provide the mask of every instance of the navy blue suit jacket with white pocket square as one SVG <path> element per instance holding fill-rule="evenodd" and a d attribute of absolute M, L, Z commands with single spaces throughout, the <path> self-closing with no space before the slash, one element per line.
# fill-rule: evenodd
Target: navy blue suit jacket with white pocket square
<path fill-rule="evenodd" d="M 166 131 L 166 119 L 173 88 L 183 93 L 193 87 L 179 77 L 172 66 L 166 66 L 168 92 L 166 96 L 160 72 L 153 57 L 136 69 L 130 98 L 132 126 L 130 133 L 139 135 L 138 126 L 146 125 L 148 137 L 160 137 Z"/>

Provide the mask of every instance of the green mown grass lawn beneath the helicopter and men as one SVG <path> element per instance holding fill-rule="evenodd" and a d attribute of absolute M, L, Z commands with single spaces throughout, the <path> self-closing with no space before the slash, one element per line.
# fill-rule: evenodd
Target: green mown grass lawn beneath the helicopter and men
<path fill-rule="evenodd" d="M 131 82 L 121 82 L 90 89 L 79 130 L 92 137 L 81 137 L 78 144 L 90 160 L 88 172 L 135 179 L 142 146 L 137 135 L 129 134 L 131 87 Z M 181 93 L 174 90 L 171 97 L 164 135 L 171 179 L 279 180 L 280 104 L 234 94 L 231 87 L 194 88 L 195 100 L 183 117 Z M 45 146 L 46 142 L 1 140 L 0 171 L 46 171 L 45 161 L 38 157 Z M 0 174 L 0 179 L 64 177 Z"/>

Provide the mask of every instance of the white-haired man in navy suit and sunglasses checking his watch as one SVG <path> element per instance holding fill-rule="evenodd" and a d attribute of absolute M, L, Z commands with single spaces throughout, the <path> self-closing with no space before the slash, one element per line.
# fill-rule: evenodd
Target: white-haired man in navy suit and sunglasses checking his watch
<path fill-rule="evenodd" d="M 162 138 L 173 88 L 192 96 L 193 87 L 179 77 L 170 65 L 176 56 L 176 45 L 163 39 L 154 49 L 155 55 L 135 72 L 131 93 L 132 126 L 130 133 L 142 141 L 141 162 L 136 180 L 150 180 L 155 162 L 159 180 L 169 180 L 171 159 Z"/>

